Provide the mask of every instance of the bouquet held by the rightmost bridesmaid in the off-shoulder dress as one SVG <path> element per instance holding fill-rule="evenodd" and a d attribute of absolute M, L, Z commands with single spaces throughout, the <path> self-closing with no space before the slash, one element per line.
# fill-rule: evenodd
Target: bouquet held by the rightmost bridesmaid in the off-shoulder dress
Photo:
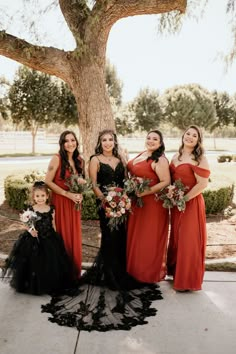
<path fill-rule="evenodd" d="M 157 194 L 157 199 L 163 200 L 164 208 L 173 208 L 176 206 L 179 211 L 184 211 L 186 207 L 185 192 L 189 187 L 185 186 L 181 179 L 177 179 L 173 184 L 165 187 Z"/>

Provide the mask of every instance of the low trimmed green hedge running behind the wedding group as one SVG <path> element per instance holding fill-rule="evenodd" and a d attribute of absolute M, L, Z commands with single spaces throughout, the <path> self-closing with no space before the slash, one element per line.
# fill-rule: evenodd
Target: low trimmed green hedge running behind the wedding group
<path fill-rule="evenodd" d="M 8 176 L 4 180 L 5 199 L 13 209 L 23 210 L 29 204 L 29 190 L 32 186 L 34 174 L 19 176 Z M 30 183 L 29 183 L 30 180 Z M 217 214 L 223 212 L 232 204 L 234 195 L 234 184 L 206 189 L 203 197 L 206 204 L 206 214 Z M 82 219 L 98 219 L 96 199 L 93 192 L 87 192 L 83 198 Z"/>

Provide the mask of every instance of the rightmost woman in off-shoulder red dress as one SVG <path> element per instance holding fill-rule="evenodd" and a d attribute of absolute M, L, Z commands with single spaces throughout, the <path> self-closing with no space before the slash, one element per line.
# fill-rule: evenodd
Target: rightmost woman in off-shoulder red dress
<path fill-rule="evenodd" d="M 172 182 L 181 179 L 187 186 L 186 209 L 171 210 L 168 246 L 168 275 L 177 291 L 201 290 L 205 270 L 206 216 L 202 191 L 208 184 L 209 165 L 202 148 L 200 129 L 191 125 L 182 136 L 182 145 L 170 164 Z"/>

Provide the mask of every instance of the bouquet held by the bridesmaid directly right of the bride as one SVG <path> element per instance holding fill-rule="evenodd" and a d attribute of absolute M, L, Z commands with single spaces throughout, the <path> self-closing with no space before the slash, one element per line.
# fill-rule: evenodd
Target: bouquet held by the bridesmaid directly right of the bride
<path fill-rule="evenodd" d="M 136 200 L 138 207 L 143 207 L 142 197 L 138 197 L 136 193 L 143 193 L 145 190 L 150 189 L 151 180 L 148 178 L 132 176 L 124 182 L 125 192 L 132 199 Z"/>

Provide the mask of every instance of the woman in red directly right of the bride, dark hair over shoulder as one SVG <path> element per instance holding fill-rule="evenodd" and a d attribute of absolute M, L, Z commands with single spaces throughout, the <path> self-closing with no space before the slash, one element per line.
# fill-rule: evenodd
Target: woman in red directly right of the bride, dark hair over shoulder
<path fill-rule="evenodd" d="M 131 176 L 150 179 L 150 189 L 138 196 L 143 207 L 134 203 L 128 220 L 127 271 L 146 283 L 156 283 L 166 275 L 166 247 L 169 213 L 155 194 L 170 184 L 169 163 L 160 131 L 147 134 L 146 150 L 128 162 Z"/>

